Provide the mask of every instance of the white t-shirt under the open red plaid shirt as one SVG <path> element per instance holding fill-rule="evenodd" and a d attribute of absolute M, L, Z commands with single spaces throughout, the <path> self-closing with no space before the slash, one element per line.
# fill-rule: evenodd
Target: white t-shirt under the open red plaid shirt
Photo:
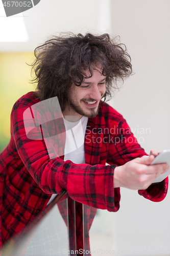
<path fill-rule="evenodd" d="M 64 161 L 70 160 L 73 163 L 85 163 L 84 139 L 88 117 L 83 116 L 77 122 L 69 122 L 64 119 L 66 141 L 64 149 Z M 57 196 L 53 194 L 47 205 Z"/>

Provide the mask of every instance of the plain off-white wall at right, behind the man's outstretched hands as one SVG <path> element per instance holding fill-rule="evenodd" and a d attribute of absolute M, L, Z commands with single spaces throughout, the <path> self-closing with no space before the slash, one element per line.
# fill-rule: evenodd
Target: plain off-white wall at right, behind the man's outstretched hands
<path fill-rule="evenodd" d="M 112 1 L 112 32 L 126 44 L 135 72 L 112 104 L 136 129 L 147 153 L 170 148 L 169 8 L 168 0 Z M 116 213 L 119 255 L 170 254 L 169 193 L 153 203 L 136 191 L 121 191 Z"/>

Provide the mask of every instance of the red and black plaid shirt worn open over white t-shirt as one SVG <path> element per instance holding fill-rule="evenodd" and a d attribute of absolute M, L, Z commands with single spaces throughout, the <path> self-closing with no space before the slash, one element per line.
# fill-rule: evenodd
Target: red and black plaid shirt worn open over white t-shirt
<path fill-rule="evenodd" d="M 64 190 L 77 202 L 117 211 L 120 190 L 113 189 L 114 168 L 145 155 L 126 120 L 107 103 L 102 103 L 98 116 L 88 119 L 86 163 L 64 162 L 62 153 L 50 159 L 45 138 L 29 139 L 23 123 L 23 112 L 37 102 L 35 94 L 30 92 L 14 104 L 11 140 L 0 155 L 0 246 L 12 236 L 19 236 L 21 230 L 43 211 L 51 195 Z M 62 125 L 57 129 L 62 132 Z M 49 146 L 52 154 L 60 151 L 53 143 Z M 106 166 L 106 162 L 110 166 Z M 167 182 L 166 178 L 147 190 L 140 190 L 139 194 L 152 201 L 161 201 L 167 193 Z M 77 207 L 80 207 L 78 203 Z M 77 219 L 80 220 L 77 226 L 81 226 L 81 216 Z M 89 219 L 91 221 L 92 217 Z"/>

